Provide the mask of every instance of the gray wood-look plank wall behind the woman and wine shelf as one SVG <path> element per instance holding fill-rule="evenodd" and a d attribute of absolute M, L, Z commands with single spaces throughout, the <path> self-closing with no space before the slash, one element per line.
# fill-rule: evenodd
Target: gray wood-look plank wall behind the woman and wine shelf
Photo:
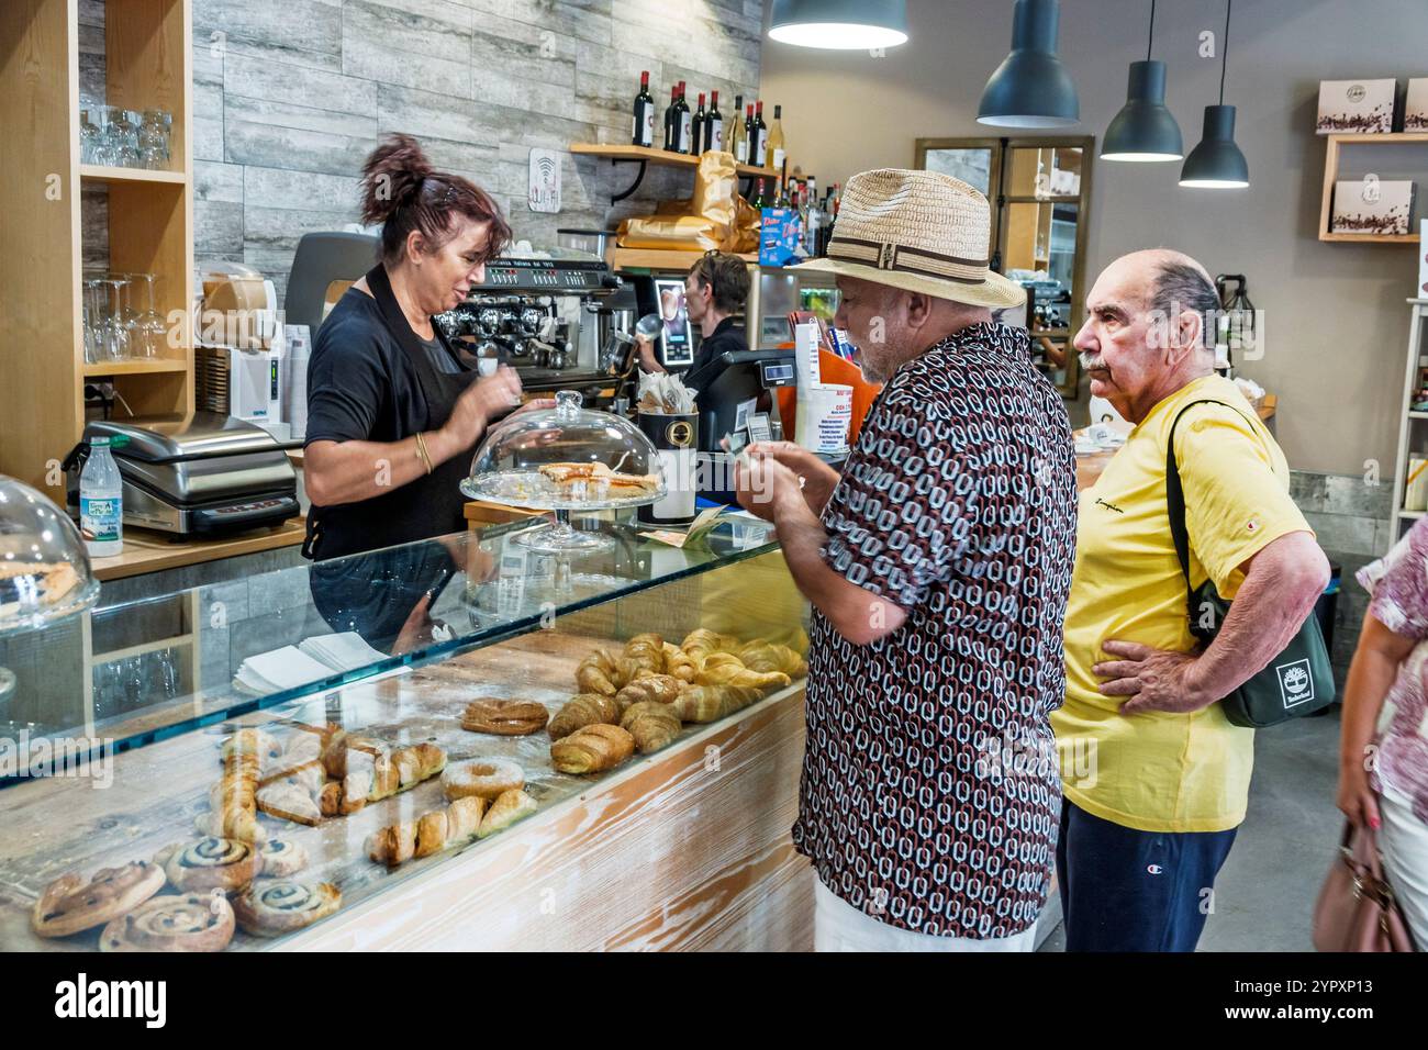
<path fill-rule="evenodd" d="M 103 94 L 100 0 L 80 0 L 86 87 Z M 761 0 L 193 0 L 196 257 L 250 263 L 281 294 L 303 233 L 356 221 L 361 161 L 387 131 L 490 190 L 517 236 L 605 227 L 687 196 L 691 174 L 651 169 L 617 209 L 630 167 L 563 159 L 564 210 L 526 204 L 531 147 L 630 141 L 640 70 L 753 96 Z M 663 111 L 663 103 L 660 103 Z M 86 200 L 89 261 L 103 261 L 104 196 Z"/>

